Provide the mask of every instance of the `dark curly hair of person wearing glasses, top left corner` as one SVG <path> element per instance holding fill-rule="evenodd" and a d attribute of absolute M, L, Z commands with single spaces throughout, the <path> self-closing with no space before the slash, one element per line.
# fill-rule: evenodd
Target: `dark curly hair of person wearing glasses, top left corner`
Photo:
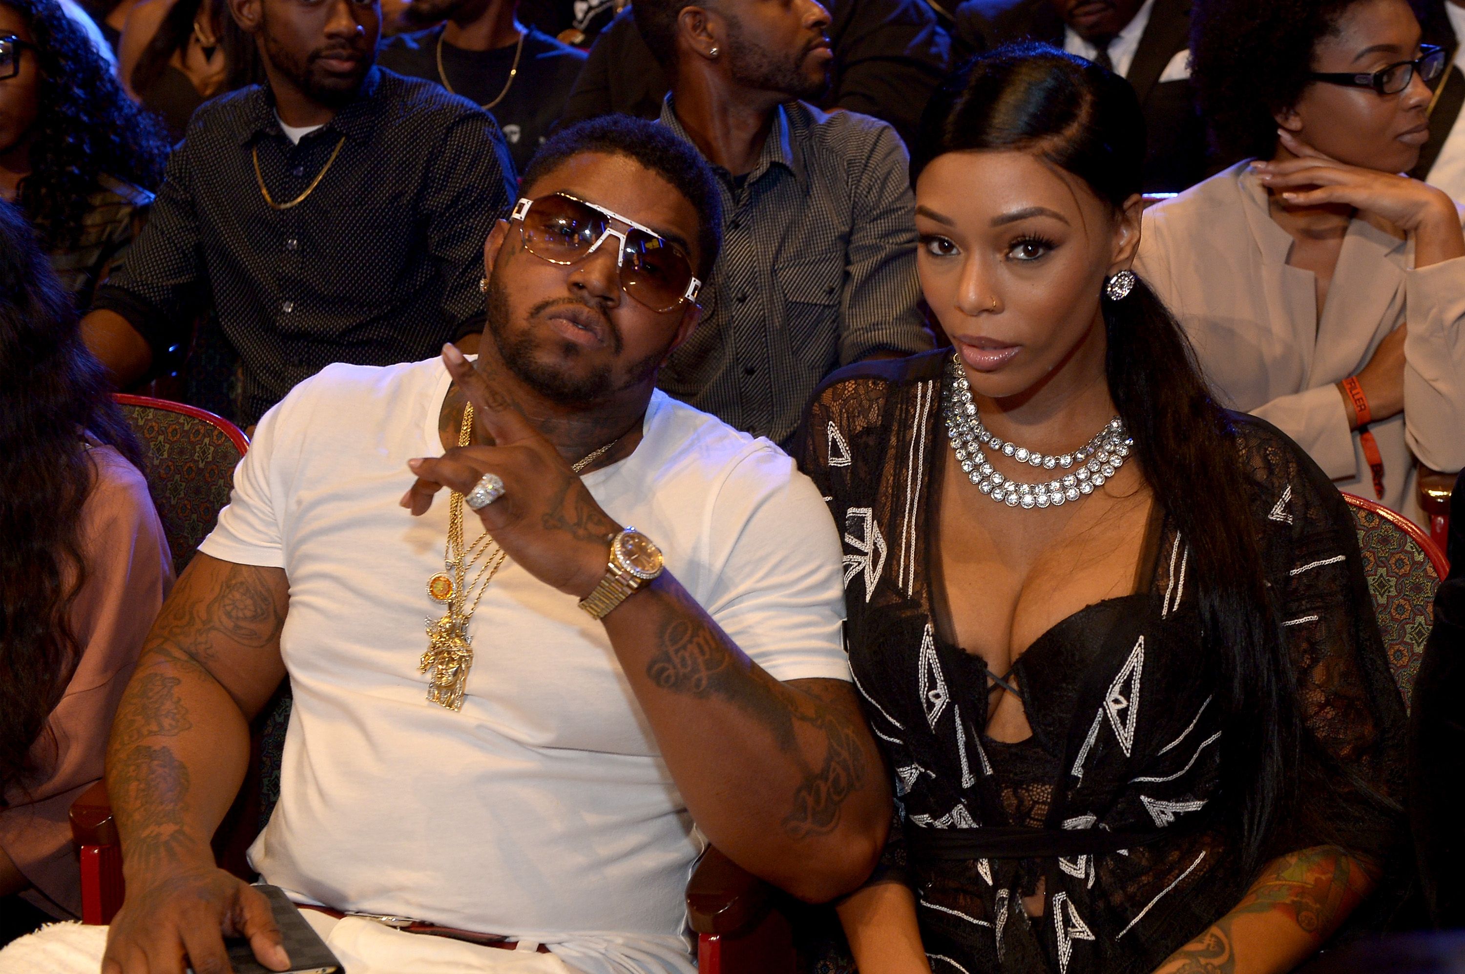
<path fill-rule="evenodd" d="M 157 189 L 167 138 L 56 0 L 0 3 L 25 21 L 40 62 L 31 174 L 21 182 L 16 202 L 41 246 L 51 250 L 76 242 L 98 176 Z"/>

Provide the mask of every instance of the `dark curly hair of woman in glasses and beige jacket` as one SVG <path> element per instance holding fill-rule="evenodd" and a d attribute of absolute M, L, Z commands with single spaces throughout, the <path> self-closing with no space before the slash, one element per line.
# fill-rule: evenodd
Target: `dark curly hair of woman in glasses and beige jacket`
<path fill-rule="evenodd" d="M 1360 0 L 1195 0 L 1191 81 L 1220 161 L 1270 158 L 1276 114 L 1310 83 L 1313 48 Z"/>

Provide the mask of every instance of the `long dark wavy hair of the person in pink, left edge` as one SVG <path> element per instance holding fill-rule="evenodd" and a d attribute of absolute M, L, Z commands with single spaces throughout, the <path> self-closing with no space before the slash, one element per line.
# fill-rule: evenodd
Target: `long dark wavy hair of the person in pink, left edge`
<path fill-rule="evenodd" d="M 108 388 L 31 226 L 0 202 L 0 792 L 31 770 L 76 668 L 67 609 L 86 576 L 78 526 L 95 479 L 82 434 L 142 466 Z"/>

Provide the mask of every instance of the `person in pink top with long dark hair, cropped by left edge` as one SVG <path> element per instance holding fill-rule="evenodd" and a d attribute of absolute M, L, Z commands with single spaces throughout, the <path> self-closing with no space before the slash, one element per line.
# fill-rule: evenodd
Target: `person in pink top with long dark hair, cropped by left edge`
<path fill-rule="evenodd" d="M 0 898 L 81 911 L 66 811 L 173 561 L 141 450 L 31 227 L 0 204 Z M 0 917 L 16 904 L 0 899 Z"/>

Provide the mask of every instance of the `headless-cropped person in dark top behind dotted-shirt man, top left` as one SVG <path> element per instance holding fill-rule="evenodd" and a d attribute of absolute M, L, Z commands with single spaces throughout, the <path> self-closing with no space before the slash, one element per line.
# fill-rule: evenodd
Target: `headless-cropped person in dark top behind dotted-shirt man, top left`
<path fill-rule="evenodd" d="M 119 62 L 127 91 L 174 142 L 201 104 L 264 81 L 255 42 L 224 0 L 142 0 L 127 15 Z"/>

